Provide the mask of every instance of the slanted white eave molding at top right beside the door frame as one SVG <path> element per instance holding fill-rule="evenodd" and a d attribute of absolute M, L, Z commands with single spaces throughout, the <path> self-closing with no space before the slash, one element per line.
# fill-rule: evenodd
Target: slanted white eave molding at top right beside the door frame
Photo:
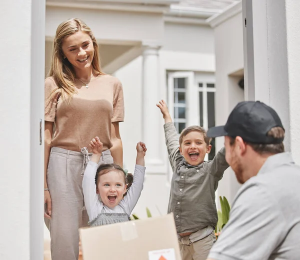
<path fill-rule="evenodd" d="M 218 26 L 220 23 L 240 13 L 241 11 L 242 11 L 241 1 L 234 2 L 230 4 L 226 9 L 224 9 L 221 13 L 214 14 L 208 19 L 206 19 L 206 22 L 209 23 L 212 28 L 214 28 Z"/>

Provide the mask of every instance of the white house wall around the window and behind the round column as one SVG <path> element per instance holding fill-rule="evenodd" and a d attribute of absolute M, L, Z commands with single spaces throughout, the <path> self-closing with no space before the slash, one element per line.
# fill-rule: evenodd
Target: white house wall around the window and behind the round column
<path fill-rule="evenodd" d="M 189 31 L 185 35 L 187 29 Z M 166 44 L 162 45 L 159 50 L 160 83 L 159 86 L 153 86 L 153 88 L 158 87 L 159 98 L 167 100 L 167 71 L 209 72 L 213 75 L 215 64 L 211 28 L 199 25 L 189 27 L 188 25 L 166 24 L 164 32 L 163 42 Z M 202 32 L 204 33 L 201 34 Z M 196 39 L 195 36 L 192 36 L 199 33 L 201 36 Z M 190 39 L 190 37 L 192 38 Z M 181 40 L 182 38 L 185 40 Z M 172 44 L 172 42 L 176 42 L 176 44 Z M 124 148 L 124 167 L 132 171 L 136 156 L 135 144 L 141 140 L 142 136 L 142 56 L 117 70 L 114 75 L 121 80 L 124 89 L 125 120 L 120 123 L 120 132 Z M 155 102 L 157 101 L 158 99 Z M 155 106 L 155 103 L 152 105 Z M 150 209 L 152 215 L 164 214 L 167 211 L 170 168 L 164 142 L 163 119 L 158 108 L 157 120 L 160 121 L 159 135 L 153 135 L 151 138 L 159 139 L 160 149 L 164 154 L 163 170 L 155 173 L 146 171 L 144 189 L 133 210 L 133 213 L 140 217 L 146 217 L 145 207 Z M 147 154 L 145 162 L 147 164 Z"/>

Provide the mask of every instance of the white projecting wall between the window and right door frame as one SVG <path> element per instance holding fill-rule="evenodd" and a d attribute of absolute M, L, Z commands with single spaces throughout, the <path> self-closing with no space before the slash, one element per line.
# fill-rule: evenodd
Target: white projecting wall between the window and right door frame
<path fill-rule="evenodd" d="M 243 68 L 242 14 L 239 12 L 214 28 L 215 37 L 215 123 L 222 125 L 244 93 L 237 85 L 239 77 L 229 76 Z M 223 146 L 223 138 L 216 138 L 216 150 Z M 219 182 L 218 195 L 232 202 L 239 184 L 231 168 L 227 169 Z"/>

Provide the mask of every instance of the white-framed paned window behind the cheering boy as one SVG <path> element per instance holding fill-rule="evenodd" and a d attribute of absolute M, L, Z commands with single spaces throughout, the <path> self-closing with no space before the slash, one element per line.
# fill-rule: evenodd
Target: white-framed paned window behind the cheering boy
<path fill-rule="evenodd" d="M 215 86 L 212 73 L 192 71 L 167 74 L 167 104 L 176 130 L 180 133 L 188 125 L 201 125 L 208 129 L 215 125 Z M 205 160 L 215 155 L 214 138 L 211 151 Z"/>

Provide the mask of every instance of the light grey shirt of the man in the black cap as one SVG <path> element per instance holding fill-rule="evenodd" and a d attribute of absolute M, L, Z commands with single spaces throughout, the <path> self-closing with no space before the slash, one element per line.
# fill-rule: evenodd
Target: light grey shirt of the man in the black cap
<path fill-rule="evenodd" d="M 300 258 L 300 167 L 287 152 L 268 157 L 232 203 L 211 248 L 215 260 Z"/>

